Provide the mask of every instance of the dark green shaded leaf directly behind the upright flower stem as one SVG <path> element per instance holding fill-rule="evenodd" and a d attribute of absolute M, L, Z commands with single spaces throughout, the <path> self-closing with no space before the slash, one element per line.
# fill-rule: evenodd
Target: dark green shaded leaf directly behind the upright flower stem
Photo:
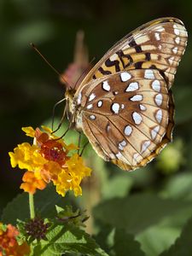
<path fill-rule="evenodd" d="M 44 191 L 39 191 L 34 195 L 35 209 L 42 218 L 53 218 L 56 216 L 55 205 L 64 207 L 69 203 L 67 196 L 65 199 L 55 192 L 54 186 L 48 186 Z M 30 218 L 28 194 L 23 192 L 17 195 L 13 201 L 10 201 L 3 209 L 3 223 L 16 224 L 16 219 L 25 220 Z"/>

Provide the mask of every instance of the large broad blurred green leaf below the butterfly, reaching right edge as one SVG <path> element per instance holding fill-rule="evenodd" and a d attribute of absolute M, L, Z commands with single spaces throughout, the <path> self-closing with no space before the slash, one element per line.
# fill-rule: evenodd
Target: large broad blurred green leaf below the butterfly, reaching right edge
<path fill-rule="evenodd" d="M 103 224 L 137 233 L 188 207 L 191 207 L 189 202 L 138 194 L 104 201 L 94 208 L 93 213 Z"/>

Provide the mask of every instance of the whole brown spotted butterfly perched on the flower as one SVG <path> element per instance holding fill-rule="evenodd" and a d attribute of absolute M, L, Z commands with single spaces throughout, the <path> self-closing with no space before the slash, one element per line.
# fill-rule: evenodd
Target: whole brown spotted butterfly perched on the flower
<path fill-rule="evenodd" d="M 171 87 L 187 44 L 183 22 L 152 20 L 127 34 L 68 89 L 67 118 L 104 160 L 146 166 L 172 141 Z"/>

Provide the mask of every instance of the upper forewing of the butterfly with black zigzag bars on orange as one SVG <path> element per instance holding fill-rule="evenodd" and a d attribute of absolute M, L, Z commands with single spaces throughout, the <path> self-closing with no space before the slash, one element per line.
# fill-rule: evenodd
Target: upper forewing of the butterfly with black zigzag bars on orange
<path fill-rule="evenodd" d="M 160 71 L 170 88 L 186 44 L 187 32 L 181 20 L 152 20 L 113 45 L 82 84 L 123 70 L 151 68 Z"/>

